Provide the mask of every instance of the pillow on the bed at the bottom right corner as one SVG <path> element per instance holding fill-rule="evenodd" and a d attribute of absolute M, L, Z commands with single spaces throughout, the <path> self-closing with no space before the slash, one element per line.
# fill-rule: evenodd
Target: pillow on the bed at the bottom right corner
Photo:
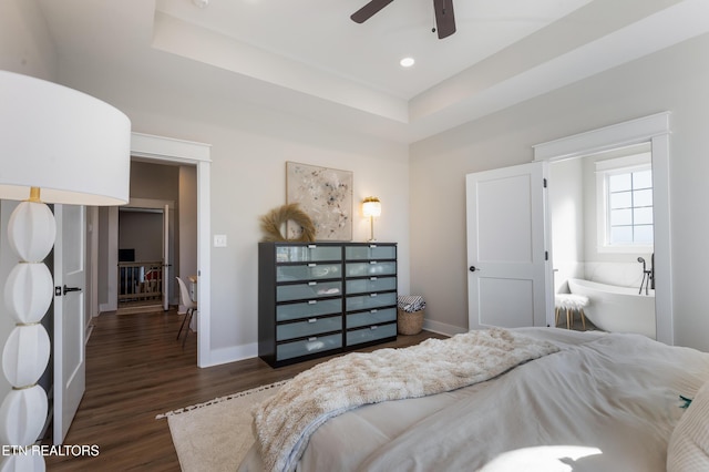
<path fill-rule="evenodd" d="M 667 472 L 693 471 L 709 471 L 709 381 L 682 413 L 667 447 Z"/>

